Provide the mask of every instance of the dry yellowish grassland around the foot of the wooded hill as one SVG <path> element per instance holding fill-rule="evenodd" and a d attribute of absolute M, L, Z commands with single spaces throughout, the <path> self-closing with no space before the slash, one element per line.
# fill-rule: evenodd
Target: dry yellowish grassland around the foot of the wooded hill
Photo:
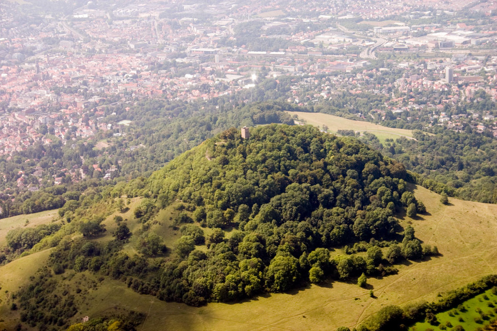
<path fill-rule="evenodd" d="M 449 205 L 443 205 L 437 194 L 421 187 L 413 186 L 412 189 L 416 198 L 426 205 L 429 214 L 415 219 L 401 217 L 401 224 L 411 224 L 416 237 L 436 245 L 441 256 L 398 265 L 397 275 L 369 278 L 367 282 L 373 287 L 375 299 L 369 296 L 369 289 L 360 288 L 355 282 L 333 281 L 289 293 L 268 294 L 242 303 L 210 303 L 194 308 L 162 302 L 135 293 L 122 282 L 104 280 L 98 289 L 82 298 L 82 309 L 74 317 L 74 322 L 81 321 L 86 315 L 100 316 L 118 307 L 146 314 L 146 320 L 138 329 L 144 331 L 165 328 L 335 330 L 339 326 L 355 327 L 386 305 L 433 301 L 439 293 L 443 295 L 486 274 L 497 273 L 497 205 L 452 198 L 449 198 Z M 18 281 L 26 281 L 30 274 L 26 269 L 29 261 L 33 265 L 43 263 L 46 261 L 46 256 L 42 256 L 45 252 L 0 267 L 0 286 L 3 283 L 13 290 L 13 284 L 11 281 L 5 283 L 3 274 L 11 274 L 16 268 L 20 271 Z M 2 286 L 1 292 L 4 288 Z M 7 313 L 5 307 L 2 311 Z"/>

